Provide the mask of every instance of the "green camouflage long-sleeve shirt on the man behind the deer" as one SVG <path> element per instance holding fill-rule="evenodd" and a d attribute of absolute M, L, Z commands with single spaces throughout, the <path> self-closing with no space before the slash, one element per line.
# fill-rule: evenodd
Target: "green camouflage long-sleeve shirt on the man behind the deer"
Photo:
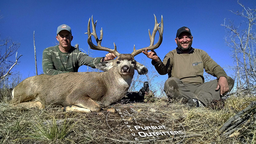
<path fill-rule="evenodd" d="M 48 47 L 43 51 L 42 66 L 46 75 L 78 72 L 82 65 L 95 68 L 101 62 L 102 57 L 89 57 L 73 46 L 67 53 L 61 52 L 58 46 Z"/>

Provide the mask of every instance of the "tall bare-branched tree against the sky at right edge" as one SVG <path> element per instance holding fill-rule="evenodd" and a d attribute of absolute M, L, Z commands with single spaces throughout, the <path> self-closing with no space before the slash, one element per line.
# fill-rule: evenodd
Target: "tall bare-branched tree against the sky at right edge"
<path fill-rule="evenodd" d="M 256 9 L 245 8 L 242 6 L 242 11 L 231 11 L 233 14 L 242 17 L 244 20 L 236 26 L 233 20 L 224 20 L 224 26 L 227 29 L 225 41 L 227 46 L 232 48 L 232 57 L 235 61 L 235 66 L 231 68 L 236 73 L 236 89 L 241 90 L 250 88 L 256 83 L 256 60 L 255 60 L 255 20 Z M 246 24 L 246 27 L 242 24 Z M 245 27 L 245 28 L 244 28 Z"/>

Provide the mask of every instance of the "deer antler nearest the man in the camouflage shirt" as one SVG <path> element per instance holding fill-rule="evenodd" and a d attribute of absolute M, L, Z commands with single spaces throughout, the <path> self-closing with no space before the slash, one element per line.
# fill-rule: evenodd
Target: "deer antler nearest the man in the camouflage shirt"
<path fill-rule="evenodd" d="M 93 50 L 108 51 L 110 53 L 115 54 L 118 57 L 120 55 L 120 53 L 117 52 L 117 46 L 116 46 L 115 43 L 114 43 L 114 50 L 112 50 L 112 49 L 110 49 L 108 47 L 102 47 L 101 46 L 101 41 L 102 41 L 102 37 L 103 37 L 103 31 L 102 31 L 102 28 L 101 28 L 101 30 L 100 30 L 100 32 L 101 32 L 100 39 L 98 39 L 98 36 L 96 34 L 96 30 L 95 30 L 96 24 L 97 24 L 97 20 L 96 20 L 96 22 L 94 24 L 93 18 L 92 18 L 92 33 L 91 33 L 91 31 L 90 31 L 90 18 L 89 18 L 87 32 L 85 33 L 85 34 L 88 34 L 87 42 L 88 42 L 89 46 Z M 95 40 L 97 42 L 97 46 L 92 43 L 92 35 L 94 36 L 94 38 L 95 38 Z"/>

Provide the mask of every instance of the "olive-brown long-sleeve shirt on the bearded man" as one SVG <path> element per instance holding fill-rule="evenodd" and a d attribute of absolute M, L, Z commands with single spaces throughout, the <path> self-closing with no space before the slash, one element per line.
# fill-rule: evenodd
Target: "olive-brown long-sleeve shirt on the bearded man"
<path fill-rule="evenodd" d="M 174 49 L 166 54 L 163 62 L 156 63 L 152 60 L 152 65 L 160 75 L 168 73 L 168 78 L 179 78 L 181 81 L 190 84 L 200 84 L 204 82 L 204 69 L 210 75 L 227 78 L 226 72 L 203 50 L 192 48 L 190 53 L 183 54 Z"/>

